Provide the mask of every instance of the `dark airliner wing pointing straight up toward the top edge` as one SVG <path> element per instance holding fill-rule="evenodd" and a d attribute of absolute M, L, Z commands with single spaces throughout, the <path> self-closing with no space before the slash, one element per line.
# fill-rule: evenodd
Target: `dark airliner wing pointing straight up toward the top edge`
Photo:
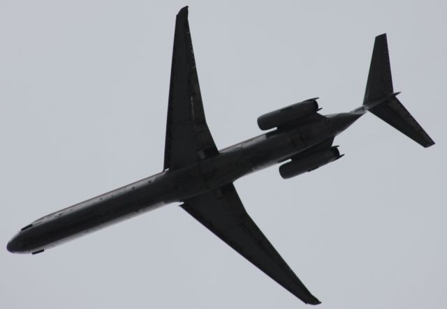
<path fill-rule="evenodd" d="M 163 169 L 184 167 L 215 153 L 203 111 L 186 6 L 175 22 Z"/>

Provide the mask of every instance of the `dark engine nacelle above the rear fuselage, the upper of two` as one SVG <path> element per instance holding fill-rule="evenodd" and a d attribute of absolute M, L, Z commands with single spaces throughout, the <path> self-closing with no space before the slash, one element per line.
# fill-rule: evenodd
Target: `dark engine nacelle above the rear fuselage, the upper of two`
<path fill-rule="evenodd" d="M 281 110 L 263 114 L 258 117 L 258 126 L 261 130 L 270 130 L 286 123 L 303 119 L 318 110 L 316 99 L 312 98 L 281 108 Z"/>

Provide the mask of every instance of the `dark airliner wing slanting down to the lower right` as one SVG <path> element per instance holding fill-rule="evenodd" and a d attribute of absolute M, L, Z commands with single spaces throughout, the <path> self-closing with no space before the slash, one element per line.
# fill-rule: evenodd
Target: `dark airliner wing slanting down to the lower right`
<path fill-rule="evenodd" d="M 293 295 L 320 303 L 251 220 L 233 184 L 186 200 L 182 208 Z"/>

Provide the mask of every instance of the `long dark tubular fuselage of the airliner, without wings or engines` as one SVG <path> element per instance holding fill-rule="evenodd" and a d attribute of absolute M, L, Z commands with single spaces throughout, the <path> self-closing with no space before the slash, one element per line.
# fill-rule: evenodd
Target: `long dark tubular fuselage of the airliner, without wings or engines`
<path fill-rule="evenodd" d="M 197 164 L 166 170 L 35 220 L 8 243 L 14 253 L 42 250 L 139 213 L 232 183 L 245 174 L 302 153 L 337 135 L 358 116 L 329 116 L 287 130 L 272 130 L 219 151 Z"/>

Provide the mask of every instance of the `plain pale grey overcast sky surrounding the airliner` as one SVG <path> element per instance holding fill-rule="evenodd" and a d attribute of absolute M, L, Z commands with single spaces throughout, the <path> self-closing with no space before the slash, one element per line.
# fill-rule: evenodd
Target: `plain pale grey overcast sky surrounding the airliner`
<path fill-rule="evenodd" d="M 41 255 L 6 251 L 32 220 L 161 171 L 186 4 L 219 148 L 300 100 L 360 105 L 374 36 L 388 33 L 395 90 L 437 144 L 367 115 L 335 140 L 342 160 L 235 186 L 318 308 L 442 308 L 445 1 L 98 0 L 0 2 L 0 307 L 305 307 L 175 204 Z"/>

